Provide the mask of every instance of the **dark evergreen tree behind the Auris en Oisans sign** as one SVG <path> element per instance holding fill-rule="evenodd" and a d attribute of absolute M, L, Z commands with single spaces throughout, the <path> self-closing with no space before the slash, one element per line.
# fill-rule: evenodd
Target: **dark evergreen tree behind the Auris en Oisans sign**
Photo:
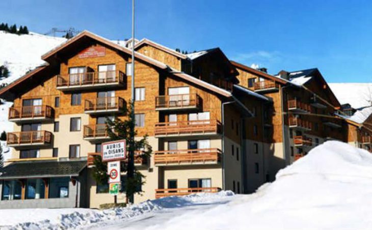
<path fill-rule="evenodd" d="M 122 172 L 127 172 L 127 180 L 125 183 L 125 193 L 126 193 L 126 203 L 129 201 L 132 202 L 132 197 L 134 194 L 138 193 L 141 194 L 138 188 L 144 184 L 142 178 L 144 176 L 141 172 L 134 167 L 134 152 L 143 150 L 143 155 L 141 157 L 147 158 L 150 156 L 152 152 L 152 148 L 147 142 L 147 135 L 145 135 L 140 140 L 132 140 L 130 137 L 131 135 L 137 135 L 135 131 L 135 120 L 130 116 L 133 109 L 133 104 L 130 102 L 127 108 L 124 108 L 124 114 L 128 119 L 125 121 L 121 121 L 116 119 L 111 121 L 109 119 L 106 120 L 107 124 L 107 132 L 110 136 L 111 140 L 126 140 L 127 146 L 127 161 L 121 161 L 120 170 Z M 130 163 L 131 162 L 131 163 Z M 93 178 L 97 182 L 97 184 L 105 184 L 107 183 L 109 176 L 107 175 L 107 163 L 103 163 L 101 157 L 96 157 L 94 159 L 93 168 Z"/>

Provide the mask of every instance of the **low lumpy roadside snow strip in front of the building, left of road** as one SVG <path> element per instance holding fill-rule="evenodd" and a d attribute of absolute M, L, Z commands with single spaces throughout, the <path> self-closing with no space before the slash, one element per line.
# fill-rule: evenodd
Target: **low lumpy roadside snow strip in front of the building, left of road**
<path fill-rule="evenodd" d="M 197 193 L 147 200 L 127 208 L 91 209 L 12 209 L 0 210 L 2 229 L 68 229 L 94 226 L 102 222 L 125 221 L 128 218 L 162 209 L 207 204 L 232 196 L 231 191 Z M 37 215 L 35 215 L 37 213 Z M 27 222 L 25 222 L 27 221 Z"/>

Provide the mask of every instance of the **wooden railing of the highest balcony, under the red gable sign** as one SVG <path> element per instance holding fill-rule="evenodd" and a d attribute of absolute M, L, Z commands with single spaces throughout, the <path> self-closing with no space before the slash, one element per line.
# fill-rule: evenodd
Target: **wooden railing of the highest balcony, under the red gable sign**
<path fill-rule="evenodd" d="M 74 87 L 107 83 L 124 83 L 125 74 L 121 71 L 73 73 L 57 76 L 57 87 Z"/>

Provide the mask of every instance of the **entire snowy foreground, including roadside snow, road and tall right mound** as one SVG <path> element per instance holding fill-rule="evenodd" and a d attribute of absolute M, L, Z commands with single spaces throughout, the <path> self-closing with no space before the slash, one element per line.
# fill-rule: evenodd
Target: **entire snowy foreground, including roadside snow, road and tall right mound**
<path fill-rule="evenodd" d="M 193 194 L 129 208 L 0 210 L 19 229 L 371 229 L 372 155 L 328 141 L 251 195 Z M 72 212 L 72 213 L 71 213 Z M 43 220 L 48 219 L 48 220 Z M 29 223 L 20 223 L 28 221 Z M 18 224 L 17 224 L 18 223 Z M 17 225 L 16 225 L 17 224 Z"/>

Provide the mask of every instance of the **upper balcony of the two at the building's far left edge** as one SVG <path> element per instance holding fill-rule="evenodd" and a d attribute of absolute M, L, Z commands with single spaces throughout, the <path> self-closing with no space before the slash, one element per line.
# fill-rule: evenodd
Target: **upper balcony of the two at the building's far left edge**
<path fill-rule="evenodd" d="M 48 105 L 34 105 L 9 108 L 9 121 L 36 122 L 52 119 L 54 109 Z"/>

